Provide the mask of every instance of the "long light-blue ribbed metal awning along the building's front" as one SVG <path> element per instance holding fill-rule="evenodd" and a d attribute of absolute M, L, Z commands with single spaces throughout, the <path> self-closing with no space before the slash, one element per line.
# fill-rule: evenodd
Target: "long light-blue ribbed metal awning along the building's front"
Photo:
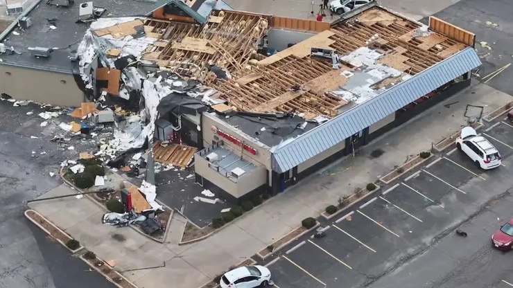
<path fill-rule="evenodd" d="M 349 109 L 272 152 L 272 170 L 285 172 L 481 65 L 468 47 L 379 96 Z"/>

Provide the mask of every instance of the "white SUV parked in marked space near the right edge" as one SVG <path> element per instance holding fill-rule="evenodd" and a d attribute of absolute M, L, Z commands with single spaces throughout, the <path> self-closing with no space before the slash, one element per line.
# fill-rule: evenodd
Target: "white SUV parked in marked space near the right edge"
<path fill-rule="evenodd" d="M 482 136 L 478 136 L 472 127 L 464 127 L 461 136 L 456 139 L 458 150 L 465 152 L 478 168 L 485 170 L 501 165 L 501 155 L 492 143 Z"/>

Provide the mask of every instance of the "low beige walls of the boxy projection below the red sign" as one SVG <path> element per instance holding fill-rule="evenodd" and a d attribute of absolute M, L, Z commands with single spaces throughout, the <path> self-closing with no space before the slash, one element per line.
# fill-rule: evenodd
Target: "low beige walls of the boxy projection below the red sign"
<path fill-rule="evenodd" d="M 194 154 L 194 168 L 195 172 L 200 174 L 203 178 L 214 183 L 214 185 L 222 188 L 229 194 L 236 198 L 242 197 L 254 189 L 259 188 L 267 181 L 267 170 L 262 165 L 257 166 L 255 170 L 247 172 L 242 177 L 238 178 L 236 182 L 228 179 L 223 174 L 209 167 L 207 161 L 198 153 Z"/>

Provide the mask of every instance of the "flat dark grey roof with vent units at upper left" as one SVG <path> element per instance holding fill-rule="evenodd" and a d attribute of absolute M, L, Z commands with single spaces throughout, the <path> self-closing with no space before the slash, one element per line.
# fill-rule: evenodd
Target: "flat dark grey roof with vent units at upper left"
<path fill-rule="evenodd" d="M 70 7 L 52 6 L 46 4 L 46 1 L 38 1 L 33 10 L 26 15 L 31 18 L 31 27 L 24 31 L 15 27 L 7 31 L 6 37 L 1 39 L 1 42 L 6 44 L 6 48 L 12 46 L 16 52 L 21 53 L 21 55 L 17 53 L 9 55 L 8 51 L 0 54 L 3 60 L 1 64 L 71 73 L 74 63 L 69 60 L 69 53 L 78 48 L 85 31 L 89 28 L 89 24 L 76 23 L 80 3 L 85 3 L 87 0 L 76 0 Z M 94 0 L 93 5 L 107 9 L 102 17 L 107 15 L 109 17 L 144 17 L 152 10 L 155 3 L 137 0 Z M 55 24 L 50 24 L 49 19 L 57 20 Z M 51 25 L 55 26 L 55 29 L 50 28 Z M 51 52 L 49 58 L 38 59 L 28 51 L 28 47 L 59 49 Z"/>

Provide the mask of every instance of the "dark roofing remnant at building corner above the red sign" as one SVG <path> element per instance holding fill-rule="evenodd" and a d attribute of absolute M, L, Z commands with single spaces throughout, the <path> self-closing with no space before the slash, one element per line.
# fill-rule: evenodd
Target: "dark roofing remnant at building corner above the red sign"
<path fill-rule="evenodd" d="M 292 114 L 251 114 L 247 112 L 232 112 L 225 116 L 218 116 L 223 122 L 240 129 L 245 134 L 257 138 L 261 143 L 273 147 L 286 141 L 289 138 L 295 138 L 318 126 L 317 123 L 307 122 L 299 116 Z M 264 128 L 264 129 L 262 129 Z"/>

